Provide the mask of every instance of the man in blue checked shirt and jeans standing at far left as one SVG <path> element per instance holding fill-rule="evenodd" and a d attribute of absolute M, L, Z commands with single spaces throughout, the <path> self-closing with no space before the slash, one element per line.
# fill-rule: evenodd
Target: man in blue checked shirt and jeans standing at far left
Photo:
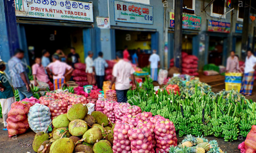
<path fill-rule="evenodd" d="M 23 57 L 24 51 L 21 49 L 16 49 L 14 56 L 8 62 L 9 72 L 12 77 L 12 85 L 14 88 L 18 89 L 19 100 L 33 96 L 29 86 L 30 82 L 25 70 L 25 66 L 21 61 Z"/>

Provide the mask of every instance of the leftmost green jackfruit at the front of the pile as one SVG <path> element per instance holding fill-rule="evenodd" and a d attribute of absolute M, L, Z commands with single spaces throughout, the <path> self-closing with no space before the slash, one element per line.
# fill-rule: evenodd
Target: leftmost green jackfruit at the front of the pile
<path fill-rule="evenodd" d="M 50 135 L 48 133 L 44 133 L 43 131 L 38 132 L 37 134 L 35 134 L 34 141 L 33 141 L 33 144 L 32 144 L 33 150 L 35 152 L 37 152 L 40 145 L 44 141 L 49 140 L 50 139 L 49 137 L 50 137 Z"/>

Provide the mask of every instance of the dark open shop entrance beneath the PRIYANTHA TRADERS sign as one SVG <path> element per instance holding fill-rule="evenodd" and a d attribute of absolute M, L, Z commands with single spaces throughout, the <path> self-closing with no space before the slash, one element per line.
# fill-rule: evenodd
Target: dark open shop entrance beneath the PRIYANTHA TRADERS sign
<path fill-rule="evenodd" d="M 23 24 L 25 28 L 29 62 L 34 63 L 34 57 L 41 57 L 42 50 L 46 49 L 53 55 L 61 49 L 65 55 L 70 53 L 70 47 L 76 49 L 84 62 L 83 29 L 78 27 L 45 26 Z M 65 59 L 62 59 L 65 60 Z"/>

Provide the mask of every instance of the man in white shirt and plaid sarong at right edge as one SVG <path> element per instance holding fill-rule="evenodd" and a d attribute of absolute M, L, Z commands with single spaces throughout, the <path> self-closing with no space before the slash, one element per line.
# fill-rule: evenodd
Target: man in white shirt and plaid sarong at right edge
<path fill-rule="evenodd" d="M 240 90 L 240 93 L 245 96 L 252 95 L 255 64 L 256 57 L 253 55 L 251 50 L 248 50 L 247 57 L 245 59 L 244 77 Z"/>

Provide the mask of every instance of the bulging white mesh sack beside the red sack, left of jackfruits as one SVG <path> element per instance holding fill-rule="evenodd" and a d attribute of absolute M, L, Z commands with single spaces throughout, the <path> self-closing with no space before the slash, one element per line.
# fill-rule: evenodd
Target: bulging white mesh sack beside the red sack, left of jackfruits
<path fill-rule="evenodd" d="M 51 121 L 49 107 L 36 103 L 29 108 L 28 124 L 35 133 L 44 131 Z"/>

